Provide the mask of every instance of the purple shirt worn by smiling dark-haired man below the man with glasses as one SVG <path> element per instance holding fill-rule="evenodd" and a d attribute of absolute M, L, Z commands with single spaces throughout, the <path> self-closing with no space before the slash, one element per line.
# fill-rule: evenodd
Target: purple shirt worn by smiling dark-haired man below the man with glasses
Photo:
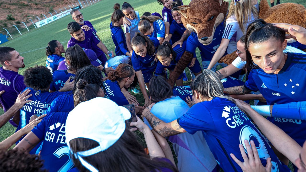
<path fill-rule="evenodd" d="M 107 61 L 107 58 L 104 54 L 104 52 L 97 46 L 98 43 L 100 43 L 100 39 L 95 34 L 94 31 L 84 31 L 85 34 L 85 40 L 84 41 L 78 41 L 75 38 L 71 37 L 67 43 L 67 48 L 72 47 L 76 44 L 78 44 L 80 47 L 82 47 L 83 50 L 85 49 L 91 49 L 95 51 L 95 54 L 97 55 L 98 59 L 103 62 L 103 65 Z"/>

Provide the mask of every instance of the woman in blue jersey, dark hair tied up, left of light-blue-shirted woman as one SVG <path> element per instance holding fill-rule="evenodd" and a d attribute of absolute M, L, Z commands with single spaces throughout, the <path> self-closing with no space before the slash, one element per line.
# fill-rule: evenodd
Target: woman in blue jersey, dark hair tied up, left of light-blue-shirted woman
<path fill-rule="evenodd" d="M 116 47 L 116 55 L 127 55 L 131 57 L 132 55 L 126 47 L 125 36 L 121 28 L 121 25 L 123 25 L 123 17 L 124 14 L 120 10 L 120 4 L 116 3 L 114 5 L 114 12 L 111 16 L 110 32 L 112 34 L 112 39 Z"/>

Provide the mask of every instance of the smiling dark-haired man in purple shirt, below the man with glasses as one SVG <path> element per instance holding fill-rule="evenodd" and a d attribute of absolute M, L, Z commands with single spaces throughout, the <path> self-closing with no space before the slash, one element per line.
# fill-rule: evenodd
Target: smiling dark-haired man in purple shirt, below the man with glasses
<path fill-rule="evenodd" d="M 107 61 L 107 58 L 105 54 L 107 54 L 108 49 L 106 46 L 100 41 L 100 39 L 97 37 L 95 32 L 92 30 L 85 31 L 81 28 L 81 26 L 76 23 L 75 21 L 70 22 L 67 26 L 68 32 L 72 36 L 67 44 L 67 47 L 72 47 L 76 44 L 78 44 L 80 47 L 82 47 L 83 50 L 85 49 L 91 49 L 95 51 L 95 54 L 97 55 L 98 59 L 102 62 L 103 69 L 102 72 L 108 73 L 112 68 L 105 68 L 105 62 Z M 105 54 L 104 54 L 105 53 Z M 109 55 L 107 54 L 109 57 Z M 112 57 L 114 57 L 115 54 L 112 51 Z"/>

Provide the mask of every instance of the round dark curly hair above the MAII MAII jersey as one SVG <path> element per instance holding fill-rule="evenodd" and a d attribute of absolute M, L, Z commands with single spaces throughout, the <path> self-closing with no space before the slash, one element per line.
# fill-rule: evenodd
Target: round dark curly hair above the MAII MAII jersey
<path fill-rule="evenodd" d="M 52 74 L 46 66 L 35 65 L 24 71 L 24 84 L 34 90 L 47 89 L 52 80 Z"/>

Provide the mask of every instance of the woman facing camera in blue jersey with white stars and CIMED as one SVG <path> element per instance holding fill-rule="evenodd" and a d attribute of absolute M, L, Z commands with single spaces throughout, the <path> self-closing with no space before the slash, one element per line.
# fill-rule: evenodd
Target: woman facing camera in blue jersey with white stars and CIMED
<path fill-rule="evenodd" d="M 259 19 L 252 22 L 245 36 L 248 80 L 242 86 L 225 88 L 226 94 L 247 94 L 260 91 L 267 105 L 306 101 L 304 85 L 305 54 L 284 53 L 285 32 Z M 293 138 L 300 146 L 306 140 L 306 121 L 268 117 L 272 123 Z M 287 158 L 279 157 L 282 162 Z"/>

